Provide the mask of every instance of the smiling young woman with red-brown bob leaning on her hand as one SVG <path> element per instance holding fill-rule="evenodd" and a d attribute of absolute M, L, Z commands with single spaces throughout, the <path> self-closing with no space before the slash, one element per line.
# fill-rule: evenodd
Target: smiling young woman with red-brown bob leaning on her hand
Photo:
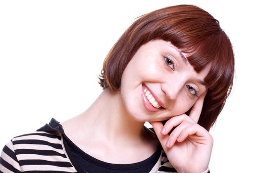
<path fill-rule="evenodd" d="M 0 171 L 208 173 L 208 130 L 233 75 L 231 43 L 208 12 L 177 5 L 145 14 L 105 58 L 97 100 L 70 120 L 14 137 Z"/>

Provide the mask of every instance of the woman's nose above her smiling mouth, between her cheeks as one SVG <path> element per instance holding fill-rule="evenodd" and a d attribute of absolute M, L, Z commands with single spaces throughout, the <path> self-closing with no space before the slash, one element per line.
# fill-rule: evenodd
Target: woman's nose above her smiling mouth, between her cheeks
<path fill-rule="evenodd" d="M 167 99 L 174 101 L 181 93 L 184 86 L 184 79 L 167 79 L 167 81 L 161 84 L 161 90 Z"/>

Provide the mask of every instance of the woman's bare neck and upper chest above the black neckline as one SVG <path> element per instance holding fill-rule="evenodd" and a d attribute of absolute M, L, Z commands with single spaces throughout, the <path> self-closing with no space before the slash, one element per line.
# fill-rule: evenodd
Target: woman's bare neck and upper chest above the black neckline
<path fill-rule="evenodd" d="M 120 91 L 104 89 L 89 109 L 62 126 L 79 148 L 109 163 L 140 162 L 157 149 L 157 141 L 144 128 L 144 122 L 125 110 Z"/>

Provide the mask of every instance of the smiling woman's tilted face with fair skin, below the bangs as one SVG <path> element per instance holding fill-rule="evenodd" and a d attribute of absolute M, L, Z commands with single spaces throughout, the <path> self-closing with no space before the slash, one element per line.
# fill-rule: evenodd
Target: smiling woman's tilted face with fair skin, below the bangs
<path fill-rule="evenodd" d="M 126 66 L 121 97 L 138 121 L 162 121 L 187 112 L 207 92 L 207 67 L 196 73 L 186 54 L 163 40 L 141 46 Z"/>

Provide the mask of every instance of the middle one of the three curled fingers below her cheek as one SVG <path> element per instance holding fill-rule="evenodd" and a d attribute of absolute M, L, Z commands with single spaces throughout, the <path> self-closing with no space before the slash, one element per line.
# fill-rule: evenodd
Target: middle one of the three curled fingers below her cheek
<path fill-rule="evenodd" d="M 174 146 L 177 138 L 179 137 L 179 135 L 181 134 L 182 130 L 184 130 L 185 128 L 191 126 L 193 123 L 190 122 L 182 122 L 179 126 L 177 126 L 169 135 L 168 141 L 166 142 L 166 147 L 171 148 Z"/>

